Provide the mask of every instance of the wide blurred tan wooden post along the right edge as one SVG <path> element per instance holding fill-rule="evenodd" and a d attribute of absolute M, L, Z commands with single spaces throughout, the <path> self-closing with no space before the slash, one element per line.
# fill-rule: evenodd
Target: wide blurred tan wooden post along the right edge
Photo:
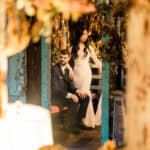
<path fill-rule="evenodd" d="M 150 2 L 134 0 L 128 18 L 127 150 L 150 150 Z"/>

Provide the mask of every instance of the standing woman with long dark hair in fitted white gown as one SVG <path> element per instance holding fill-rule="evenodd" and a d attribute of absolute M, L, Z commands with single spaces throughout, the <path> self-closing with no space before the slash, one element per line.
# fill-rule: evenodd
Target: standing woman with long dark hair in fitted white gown
<path fill-rule="evenodd" d="M 73 25 L 73 26 L 72 26 Z M 88 43 L 88 25 L 85 22 L 76 22 L 70 24 L 70 42 L 71 42 L 71 66 L 73 67 L 73 83 L 76 88 L 84 91 L 85 96 L 90 96 L 86 117 L 83 123 L 88 127 L 95 127 L 100 125 L 101 115 L 101 98 L 97 107 L 97 112 L 94 114 L 94 108 L 91 98 L 91 81 L 92 72 L 90 68 L 90 58 L 97 65 L 101 72 L 102 64 L 98 60 L 96 53 L 91 45 Z"/>

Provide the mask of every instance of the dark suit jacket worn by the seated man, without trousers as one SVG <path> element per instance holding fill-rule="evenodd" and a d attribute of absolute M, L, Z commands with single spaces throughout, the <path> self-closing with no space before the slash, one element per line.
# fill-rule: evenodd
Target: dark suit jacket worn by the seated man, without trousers
<path fill-rule="evenodd" d="M 64 75 L 60 64 L 56 64 L 52 67 L 51 72 L 51 104 L 64 106 L 65 97 L 68 92 L 75 93 L 76 88 L 74 87 L 72 80 L 69 78 L 69 70 Z"/>

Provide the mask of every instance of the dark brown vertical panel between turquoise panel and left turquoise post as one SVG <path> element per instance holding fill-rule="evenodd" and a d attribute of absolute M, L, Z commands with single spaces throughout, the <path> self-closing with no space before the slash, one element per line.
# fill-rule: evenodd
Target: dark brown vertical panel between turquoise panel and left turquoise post
<path fill-rule="evenodd" d="M 41 105 L 41 44 L 30 44 L 27 56 L 27 103 Z"/>

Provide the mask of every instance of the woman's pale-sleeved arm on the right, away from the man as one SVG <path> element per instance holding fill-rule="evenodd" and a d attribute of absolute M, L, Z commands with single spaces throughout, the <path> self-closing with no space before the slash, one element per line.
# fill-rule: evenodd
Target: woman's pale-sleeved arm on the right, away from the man
<path fill-rule="evenodd" d="M 92 58 L 93 62 L 99 68 L 100 73 L 102 72 L 102 62 L 97 58 L 94 48 L 90 45 L 90 57 Z"/>

